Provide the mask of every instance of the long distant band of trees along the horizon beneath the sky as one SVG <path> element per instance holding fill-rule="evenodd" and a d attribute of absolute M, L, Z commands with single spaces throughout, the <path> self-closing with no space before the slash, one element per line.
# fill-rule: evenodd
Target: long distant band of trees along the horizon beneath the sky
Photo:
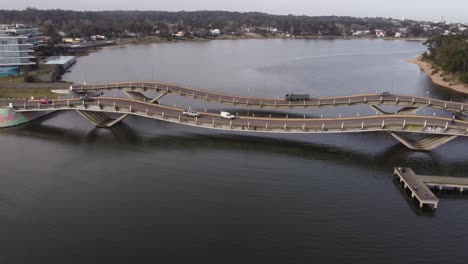
<path fill-rule="evenodd" d="M 399 27 L 408 28 L 409 36 L 424 36 L 416 21 L 391 18 L 355 18 L 349 16 L 270 15 L 259 12 L 228 11 L 71 11 L 71 10 L 0 10 L 0 23 L 23 23 L 40 26 L 45 33 L 63 31 L 73 37 L 101 34 L 112 37 L 125 31 L 151 35 L 155 31 L 206 31 L 218 28 L 235 32 L 240 26 L 275 27 L 293 35 L 348 36 L 355 30 L 375 29 L 395 34 Z"/>

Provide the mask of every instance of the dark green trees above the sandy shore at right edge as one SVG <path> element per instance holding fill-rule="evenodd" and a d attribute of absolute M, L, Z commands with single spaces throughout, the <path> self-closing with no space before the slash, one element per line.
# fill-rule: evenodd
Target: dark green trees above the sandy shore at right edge
<path fill-rule="evenodd" d="M 460 81 L 468 83 L 468 36 L 437 36 L 424 43 L 428 52 L 423 59 L 433 62 L 443 71 L 459 76 Z"/>

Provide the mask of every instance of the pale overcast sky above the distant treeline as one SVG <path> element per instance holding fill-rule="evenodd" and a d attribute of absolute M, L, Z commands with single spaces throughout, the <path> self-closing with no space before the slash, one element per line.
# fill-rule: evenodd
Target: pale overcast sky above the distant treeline
<path fill-rule="evenodd" d="M 227 10 L 468 22 L 468 0 L 1 0 L 0 9 Z"/>

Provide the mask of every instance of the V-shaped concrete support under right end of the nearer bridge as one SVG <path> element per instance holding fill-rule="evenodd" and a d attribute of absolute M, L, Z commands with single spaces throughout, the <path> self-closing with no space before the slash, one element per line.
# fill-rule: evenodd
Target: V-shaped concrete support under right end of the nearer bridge
<path fill-rule="evenodd" d="M 405 145 L 407 148 L 418 151 L 431 151 L 458 137 L 449 135 L 430 135 L 419 140 L 412 140 L 396 132 L 390 132 L 390 135 L 400 141 L 400 143 Z"/>

